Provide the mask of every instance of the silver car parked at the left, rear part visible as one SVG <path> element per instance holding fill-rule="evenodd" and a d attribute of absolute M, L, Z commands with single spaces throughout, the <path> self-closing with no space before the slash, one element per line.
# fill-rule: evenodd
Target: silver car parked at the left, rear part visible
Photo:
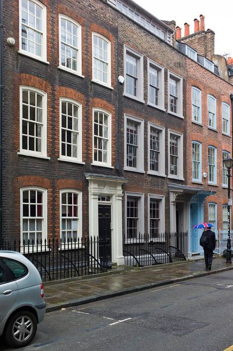
<path fill-rule="evenodd" d="M 28 345 L 45 307 L 36 267 L 19 252 L 0 250 L 0 336 L 15 348 Z"/>

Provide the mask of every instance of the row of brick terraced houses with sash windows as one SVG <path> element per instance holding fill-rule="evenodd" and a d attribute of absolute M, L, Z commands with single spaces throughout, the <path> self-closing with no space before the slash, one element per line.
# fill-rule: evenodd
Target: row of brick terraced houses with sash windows
<path fill-rule="evenodd" d="M 190 232 L 208 203 L 226 204 L 232 85 L 209 47 L 199 53 L 193 42 L 175 41 L 175 22 L 133 1 L 14 0 L 13 13 L 10 5 L 3 7 L 4 239 L 109 233 L 112 261 L 123 264 L 122 235 L 127 243 L 139 233 L 156 241 L 165 230 Z M 216 121 L 209 128 L 208 97 Z M 192 108 L 202 109 L 202 120 Z M 197 145 L 202 167 L 192 160 Z M 209 183 L 208 167 L 216 170 Z M 190 234 L 191 253 L 197 233 Z"/>

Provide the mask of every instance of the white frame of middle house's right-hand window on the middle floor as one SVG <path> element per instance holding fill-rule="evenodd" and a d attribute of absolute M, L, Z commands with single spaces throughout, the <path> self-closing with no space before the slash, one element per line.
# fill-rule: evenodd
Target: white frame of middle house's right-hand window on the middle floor
<path fill-rule="evenodd" d="M 178 137 L 177 176 L 170 174 L 170 136 L 171 134 Z M 171 129 L 168 130 L 168 178 L 184 180 L 183 178 L 183 134 L 175 132 Z"/>

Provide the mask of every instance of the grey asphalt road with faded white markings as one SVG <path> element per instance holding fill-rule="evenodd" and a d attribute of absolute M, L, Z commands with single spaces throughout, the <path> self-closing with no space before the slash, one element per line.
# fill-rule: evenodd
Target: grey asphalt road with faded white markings
<path fill-rule="evenodd" d="M 48 313 L 20 350 L 223 351 L 232 329 L 228 271 Z"/>

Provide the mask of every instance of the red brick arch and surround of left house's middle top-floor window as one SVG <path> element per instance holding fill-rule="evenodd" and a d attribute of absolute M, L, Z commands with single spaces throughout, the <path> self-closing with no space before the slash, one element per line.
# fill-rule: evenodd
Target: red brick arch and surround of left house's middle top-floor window
<path fill-rule="evenodd" d="M 72 20 L 74 20 L 75 22 L 77 22 L 81 27 L 82 27 L 82 46 L 84 47 L 85 45 L 85 19 L 81 16 L 79 16 L 75 11 L 74 8 L 70 8 L 67 6 L 62 5 L 61 3 L 58 3 L 58 7 L 57 7 L 57 14 L 56 14 L 56 18 L 55 18 L 55 33 L 56 33 L 56 37 L 57 40 L 55 40 L 54 42 L 54 46 L 55 46 L 55 52 L 56 52 L 56 58 L 55 58 L 55 65 L 59 65 L 59 14 L 60 15 L 65 15 L 69 18 L 71 18 Z M 85 62 L 85 50 L 82 48 L 82 62 Z M 85 71 L 84 71 L 84 65 L 83 65 L 83 75 L 85 75 Z"/>

